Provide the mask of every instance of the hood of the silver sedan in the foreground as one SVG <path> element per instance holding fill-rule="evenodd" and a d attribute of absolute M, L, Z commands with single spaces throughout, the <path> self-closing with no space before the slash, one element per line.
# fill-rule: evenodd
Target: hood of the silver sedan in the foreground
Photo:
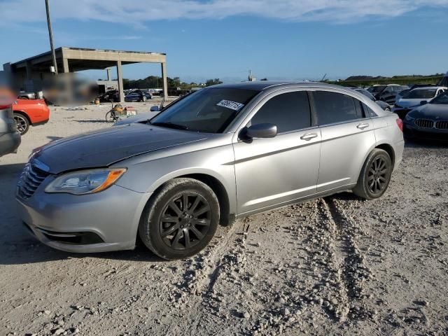
<path fill-rule="evenodd" d="M 36 150 L 34 158 L 58 174 L 69 170 L 107 167 L 115 162 L 162 148 L 207 139 L 210 134 L 134 123 L 53 141 Z"/>

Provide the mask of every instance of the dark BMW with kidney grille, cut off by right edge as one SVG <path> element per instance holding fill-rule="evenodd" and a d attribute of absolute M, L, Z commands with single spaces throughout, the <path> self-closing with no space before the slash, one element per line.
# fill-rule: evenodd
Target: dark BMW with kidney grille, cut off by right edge
<path fill-rule="evenodd" d="M 448 92 L 407 113 L 405 137 L 448 140 Z"/>

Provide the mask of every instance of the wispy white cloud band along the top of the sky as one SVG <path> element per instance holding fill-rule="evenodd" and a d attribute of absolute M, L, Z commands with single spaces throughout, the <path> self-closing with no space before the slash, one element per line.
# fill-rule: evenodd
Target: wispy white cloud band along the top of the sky
<path fill-rule="evenodd" d="M 350 23 L 372 17 L 392 18 L 423 7 L 448 8 L 448 0 L 50 0 L 53 20 L 99 20 L 141 26 L 156 20 L 218 20 L 236 15 Z M 0 13 L 0 25 L 45 20 L 43 1 L 3 0 Z"/>

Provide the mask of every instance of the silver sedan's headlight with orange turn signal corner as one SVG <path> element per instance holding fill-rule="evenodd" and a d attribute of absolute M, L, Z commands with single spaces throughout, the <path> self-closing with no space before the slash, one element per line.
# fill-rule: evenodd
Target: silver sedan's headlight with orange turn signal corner
<path fill-rule="evenodd" d="M 111 168 L 67 173 L 52 181 L 45 188 L 45 193 L 69 193 L 73 195 L 99 193 L 116 183 L 125 172 L 125 168 Z"/>

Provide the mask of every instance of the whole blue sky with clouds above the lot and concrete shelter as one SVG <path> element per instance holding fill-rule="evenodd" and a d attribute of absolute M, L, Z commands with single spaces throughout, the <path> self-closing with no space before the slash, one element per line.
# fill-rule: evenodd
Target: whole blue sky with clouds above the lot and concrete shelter
<path fill-rule="evenodd" d="M 168 76 L 320 79 L 448 71 L 447 0 L 50 0 L 56 46 L 167 53 Z M 1 64 L 49 50 L 44 1 L 0 0 Z M 123 68 L 159 75 L 158 64 Z M 104 78 L 105 71 L 87 76 Z"/>

